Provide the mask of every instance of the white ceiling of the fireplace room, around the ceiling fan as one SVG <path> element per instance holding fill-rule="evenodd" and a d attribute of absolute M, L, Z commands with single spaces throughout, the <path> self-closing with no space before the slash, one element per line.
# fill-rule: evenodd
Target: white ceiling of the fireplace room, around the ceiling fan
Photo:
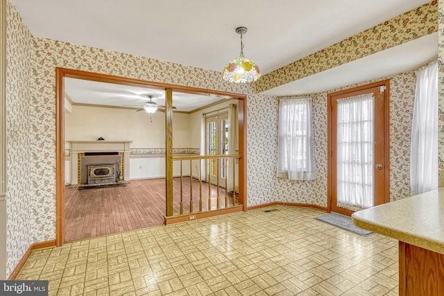
<path fill-rule="evenodd" d="M 153 102 L 158 106 L 165 105 L 165 92 L 160 89 L 116 85 L 75 78 L 64 79 L 65 93 L 68 94 L 69 99 L 75 104 L 113 107 L 133 105 L 135 109 L 139 109 L 146 102 L 150 101 L 148 96 L 152 96 Z M 176 107 L 176 111 L 191 112 L 222 99 L 223 97 L 215 95 L 204 96 L 173 92 L 173 106 Z"/>

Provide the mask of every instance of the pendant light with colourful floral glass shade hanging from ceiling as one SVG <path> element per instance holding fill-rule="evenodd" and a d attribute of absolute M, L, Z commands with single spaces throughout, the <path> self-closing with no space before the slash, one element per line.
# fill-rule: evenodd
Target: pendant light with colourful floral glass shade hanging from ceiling
<path fill-rule="evenodd" d="M 223 69 L 223 79 L 228 82 L 253 82 L 261 76 L 256 62 L 244 57 L 244 42 L 242 42 L 242 35 L 247 33 L 247 31 L 246 27 L 236 28 L 236 33 L 241 34 L 241 55 L 238 58 L 230 60 Z"/>

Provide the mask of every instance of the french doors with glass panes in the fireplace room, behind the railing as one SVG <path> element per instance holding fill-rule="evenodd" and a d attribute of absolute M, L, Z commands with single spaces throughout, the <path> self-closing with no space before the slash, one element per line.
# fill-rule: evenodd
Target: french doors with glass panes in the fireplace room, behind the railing
<path fill-rule="evenodd" d="M 228 155 L 228 128 L 230 124 L 228 122 L 228 112 L 223 114 L 217 114 L 207 117 L 206 130 L 207 130 L 207 155 Z M 207 160 L 207 176 L 205 179 L 208 181 L 210 177 L 211 184 L 218 184 L 225 187 L 225 178 L 227 176 L 227 164 L 226 159 L 208 159 Z"/>

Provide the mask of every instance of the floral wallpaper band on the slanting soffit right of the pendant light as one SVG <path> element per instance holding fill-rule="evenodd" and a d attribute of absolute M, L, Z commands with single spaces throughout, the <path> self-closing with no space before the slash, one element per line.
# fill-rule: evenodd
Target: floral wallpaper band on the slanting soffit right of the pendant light
<path fill-rule="evenodd" d="M 341 64 L 434 33 L 438 29 L 436 24 L 437 13 L 438 1 L 434 0 L 426 3 L 287 66 L 267 73 L 257 80 L 254 87 L 257 92 L 264 92 L 267 89 L 332 69 Z"/>

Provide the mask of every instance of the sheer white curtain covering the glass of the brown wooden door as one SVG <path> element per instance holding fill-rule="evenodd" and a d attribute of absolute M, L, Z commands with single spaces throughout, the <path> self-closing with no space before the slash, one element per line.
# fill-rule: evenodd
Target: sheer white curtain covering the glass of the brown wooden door
<path fill-rule="evenodd" d="M 357 211 L 373 207 L 373 94 L 337 100 L 337 205 Z"/>

